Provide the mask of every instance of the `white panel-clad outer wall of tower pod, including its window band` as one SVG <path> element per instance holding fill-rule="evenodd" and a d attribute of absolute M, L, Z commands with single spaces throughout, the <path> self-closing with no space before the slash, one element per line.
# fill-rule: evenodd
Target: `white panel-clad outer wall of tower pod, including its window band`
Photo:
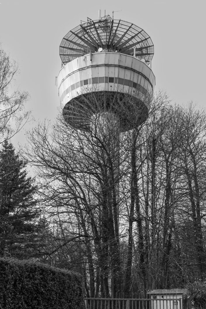
<path fill-rule="evenodd" d="M 68 62 L 60 70 L 57 84 L 62 104 L 88 91 L 128 91 L 152 94 L 155 77 L 139 59 L 121 53 L 92 53 Z"/>

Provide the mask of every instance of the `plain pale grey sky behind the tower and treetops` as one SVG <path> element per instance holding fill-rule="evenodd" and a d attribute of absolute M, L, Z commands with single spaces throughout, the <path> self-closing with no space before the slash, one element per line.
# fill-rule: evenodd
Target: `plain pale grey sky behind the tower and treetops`
<path fill-rule="evenodd" d="M 30 93 L 28 109 L 38 120 L 54 119 L 60 105 L 55 76 L 61 67 L 59 44 L 80 20 L 112 15 L 143 28 L 154 44 L 152 71 L 156 88 L 179 104 L 205 102 L 204 1 L 49 1 L 1 0 L 0 42 L 18 61 L 19 88 Z M 29 126 L 34 125 L 30 123 Z M 15 140 L 24 143 L 24 132 Z"/>

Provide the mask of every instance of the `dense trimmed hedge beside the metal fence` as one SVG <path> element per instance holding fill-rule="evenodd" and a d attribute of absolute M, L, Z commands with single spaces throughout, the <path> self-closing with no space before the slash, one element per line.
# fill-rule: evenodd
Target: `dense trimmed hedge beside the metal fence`
<path fill-rule="evenodd" d="M 28 260 L 0 258 L 0 309 L 83 309 L 82 276 Z"/>

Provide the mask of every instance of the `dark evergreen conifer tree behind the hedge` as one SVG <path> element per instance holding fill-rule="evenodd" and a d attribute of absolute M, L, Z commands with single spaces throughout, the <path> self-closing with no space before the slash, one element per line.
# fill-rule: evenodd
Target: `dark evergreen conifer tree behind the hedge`
<path fill-rule="evenodd" d="M 25 167 L 13 145 L 4 142 L 0 150 L 0 256 L 27 258 L 37 243 L 36 187 Z"/>

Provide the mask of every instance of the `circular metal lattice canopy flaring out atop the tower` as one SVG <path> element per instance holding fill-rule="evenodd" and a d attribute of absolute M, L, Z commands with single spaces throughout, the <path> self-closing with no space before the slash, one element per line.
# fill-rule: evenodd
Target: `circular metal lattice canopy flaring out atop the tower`
<path fill-rule="evenodd" d="M 108 52 L 119 52 L 144 58 L 148 63 L 154 54 L 154 45 L 148 34 L 142 29 L 123 20 L 88 20 L 67 33 L 62 39 L 59 54 L 63 64 L 88 54 L 99 48 Z"/>

